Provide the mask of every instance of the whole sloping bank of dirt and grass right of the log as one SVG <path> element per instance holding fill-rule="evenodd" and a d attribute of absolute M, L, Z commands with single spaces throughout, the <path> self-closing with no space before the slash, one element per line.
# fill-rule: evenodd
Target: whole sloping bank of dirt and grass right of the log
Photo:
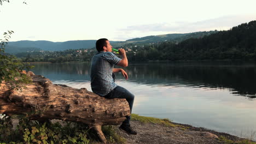
<path fill-rule="evenodd" d="M 193 127 L 189 124 L 171 122 L 169 119 L 144 117 L 132 113 L 131 127 L 137 131 L 137 135 L 127 135 L 115 126 L 116 133 L 125 137 L 127 143 L 183 143 L 183 144 L 217 144 L 252 142 L 254 137 L 247 139 L 228 133 L 210 130 L 202 127 Z M 227 143 L 228 144 L 228 143 Z"/>

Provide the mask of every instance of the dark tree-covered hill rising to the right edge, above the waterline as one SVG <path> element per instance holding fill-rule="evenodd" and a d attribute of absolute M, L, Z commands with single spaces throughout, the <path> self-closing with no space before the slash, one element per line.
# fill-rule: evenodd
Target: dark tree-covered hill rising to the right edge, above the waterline
<path fill-rule="evenodd" d="M 188 37 L 186 35 L 185 37 Z M 185 38 L 183 37 L 183 38 Z M 242 23 L 228 31 L 201 38 L 189 38 L 179 43 L 162 41 L 147 46 L 130 46 L 130 61 L 185 60 L 254 60 L 256 61 L 256 21 Z"/>

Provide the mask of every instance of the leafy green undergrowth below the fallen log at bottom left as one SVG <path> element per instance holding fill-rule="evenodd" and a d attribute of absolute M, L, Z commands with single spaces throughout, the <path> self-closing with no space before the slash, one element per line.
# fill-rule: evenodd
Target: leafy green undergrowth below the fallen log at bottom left
<path fill-rule="evenodd" d="M 19 119 L 19 124 L 13 128 L 12 118 Z M 115 133 L 112 125 L 105 125 L 102 131 L 108 143 L 125 143 L 126 140 Z M 83 123 L 29 121 L 28 116 L 1 116 L 0 144 L 25 143 L 98 143 L 94 130 Z"/>

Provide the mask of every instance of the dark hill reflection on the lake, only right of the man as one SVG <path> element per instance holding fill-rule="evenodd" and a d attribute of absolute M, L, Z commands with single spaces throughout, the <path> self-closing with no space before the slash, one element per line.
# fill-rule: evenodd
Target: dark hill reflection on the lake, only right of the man
<path fill-rule="evenodd" d="M 131 81 L 158 86 L 228 88 L 256 98 L 256 67 L 218 65 L 130 65 Z"/>

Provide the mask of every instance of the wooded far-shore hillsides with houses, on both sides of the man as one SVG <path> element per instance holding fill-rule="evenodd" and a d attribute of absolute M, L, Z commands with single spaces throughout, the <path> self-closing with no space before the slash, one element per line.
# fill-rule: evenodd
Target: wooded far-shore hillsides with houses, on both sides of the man
<path fill-rule="evenodd" d="M 124 48 L 130 62 L 256 59 L 256 21 L 242 23 L 228 31 L 212 32 L 210 35 L 206 33 L 203 36 L 199 33 L 184 35 L 183 41 L 183 38 L 179 37 L 159 43 L 129 43 L 115 48 Z M 93 48 L 18 53 L 16 56 L 25 62 L 90 62 L 96 52 Z"/>

